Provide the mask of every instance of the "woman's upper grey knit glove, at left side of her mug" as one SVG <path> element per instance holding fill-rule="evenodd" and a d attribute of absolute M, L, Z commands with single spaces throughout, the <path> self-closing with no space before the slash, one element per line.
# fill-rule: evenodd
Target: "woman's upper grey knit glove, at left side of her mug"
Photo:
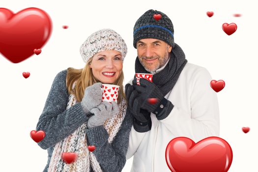
<path fill-rule="evenodd" d="M 95 83 L 85 89 L 84 97 L 81 105 L 85 113 L 89 113 L 91 109 L 96 108 L 102 100 L 102 83 Z"/>

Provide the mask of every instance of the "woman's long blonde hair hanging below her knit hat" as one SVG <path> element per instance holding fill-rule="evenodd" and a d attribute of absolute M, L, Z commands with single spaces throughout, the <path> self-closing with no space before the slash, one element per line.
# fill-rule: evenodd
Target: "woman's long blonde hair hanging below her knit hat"
<path fill-rule="evenodd" d="M 93 84 L 100 82 L 93 76 L 92 69 L 89 67 L 91 61 L 92 61 L 92 57 L 87 61 L 83 69 L 75 69 L 72 67 L 69 67 L 67 69 L 66 87 L 67 87 L 68 93 L 74 94 L 78 102 L 82 101 L 86 87 L 92 86 Z M 124 80 L 124 74 L 122 71 L 118 79 L 115 81 L 115 83 L 113 83 L 114 85 L 120 86 L 118 89 L 119 96 L 117 99 L 117 104 L 121 102 L 122 97 L 126 100 L 126 96 L 123 90 L 123 80 Z M 75 82 L 76 82 L 76 85 L 73 89 L 73 84 Z"/>

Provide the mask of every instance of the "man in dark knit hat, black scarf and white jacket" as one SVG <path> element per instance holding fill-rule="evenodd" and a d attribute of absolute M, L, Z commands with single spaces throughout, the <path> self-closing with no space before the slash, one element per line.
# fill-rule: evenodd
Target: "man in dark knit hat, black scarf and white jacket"
<path fill-rule="evenodd" d="M 152 73 L 153 82 L 140 79 L 137 85 L 134 79 L 125 86 L 129 113 L 134 116 L 127 152 L 127 159 L 134 155 L 131 172 L 170 172 L 165 151 L 173 138 L 198 142 L 219 135 L 211 76 L 187 62 L 173 33 L 169 17 L 156 10 L 146 11 L 134 27 L 135 72 Z"/>

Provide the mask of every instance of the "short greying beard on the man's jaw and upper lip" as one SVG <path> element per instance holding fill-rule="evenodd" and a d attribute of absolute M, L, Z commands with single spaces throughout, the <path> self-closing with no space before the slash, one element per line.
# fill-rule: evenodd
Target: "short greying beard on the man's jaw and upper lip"
<path fill-rule="evenodd" d="M 150 60 L 150 59 L 155 59 L 155 58 L 158 59 L 158 63 L 152 64 L 151 66 L 155 65 L 152 68 L 149 68 L 148 65 L 145 65 L 144 62 L 143 62 L 143 59 Z M 144 69 L 146 71 L 148 71 L 148 72 L 154 72 L 157 69 L 163 67 L 166 64 L 166 62 L 168 61 L 168 59 L 169 59 L 169 53 L 168 52 L 166 52 L 166 55 L 164 57 L 160 57 L 160 56 L 152 56 L 152 57 L 144 57 L 144 56 L 142 56 L 142 57 L 139 57 L 140 63 L 143 65 Z"/>

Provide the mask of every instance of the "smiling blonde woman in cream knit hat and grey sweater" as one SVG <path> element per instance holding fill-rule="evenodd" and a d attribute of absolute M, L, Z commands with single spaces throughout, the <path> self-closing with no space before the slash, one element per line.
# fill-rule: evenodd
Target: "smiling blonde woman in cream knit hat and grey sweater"
<path fill-rule="evenodd" d="M 38 144 L 48 149 L 44 172 L 120 172 L 133 122 L 126 115 L 122 86 L 127 47 L 114 30 L 102 29 L 86 39 L 80 52 L 86 66 L 57 74 L 39 117 L 36 129 L 46 136 Z M 102 83 L 120 86 L 117 103 L 102 102 Z M 63 152 L 76 153 L 76 161 L 66 164 Z"/>

